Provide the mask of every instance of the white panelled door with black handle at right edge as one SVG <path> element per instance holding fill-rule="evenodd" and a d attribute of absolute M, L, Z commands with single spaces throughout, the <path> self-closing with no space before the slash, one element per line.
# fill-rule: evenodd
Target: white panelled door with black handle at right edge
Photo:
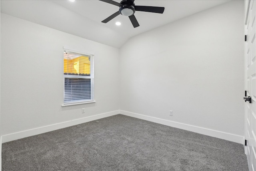
<path fill-rule="evenodd" d="M 245 153 L 248 159 L 250 171 L 256 171 L 256 2 L 250 0 L 246 12 L 245 34 L 245 90 L 247 98 L 251 97 L 251 103 L 245 105 Z"/>

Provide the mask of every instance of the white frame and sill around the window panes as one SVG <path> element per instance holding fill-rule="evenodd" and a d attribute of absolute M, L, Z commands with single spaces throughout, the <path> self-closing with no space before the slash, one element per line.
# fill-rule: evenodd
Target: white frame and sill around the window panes
<path fill-rule="evenodd" d="M 63 104 L 62 106 L 69 106 L 69 105 L 78 105 L 78 104 L 86 104 L 86 103 L 94 103 L 96 102 L 94 99 L 94 53 L 89 53 L 89 52 L 84 52 L 82 50 L 76 50 L 73 48 L 67 48 L 63 47 L 63 52 L 67 53 L 73 53 L 73 54 L 78 54 L 81 56 L 90 56 L 90 76 L 79 76 L 79 75 L 65 75 L 64 74 L 64 63 L 63 63 Z M 62 59 L 64 59 L 62 57 Z M 69 101 L 69 102 L 64 102 L 65 99 L 65 78 L 87 78 L 90 79 L 90 99 L 88 100 L 81 100 L 81 101 Z"/>

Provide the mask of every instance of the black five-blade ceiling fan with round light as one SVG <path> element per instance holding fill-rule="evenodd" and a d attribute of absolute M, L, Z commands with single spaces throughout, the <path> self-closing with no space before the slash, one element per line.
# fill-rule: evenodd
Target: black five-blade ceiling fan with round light
<path fill-rule="evenodd" d="M 123 16 L 128 16 L 132 22 L 132 25 L 134 28 L 140 26 L 138 21 L 136 20 L 134 13 L 135 11 L 144 11 L 144 12 L 154 12 L 154 13 L 160 13 L 163 14 L 164 7 L 157 7 L 157 6 L 137 6 L 134 4 L 134 0 L 122 0 L 120 3 L 115 2 L 113 0 L 100 0 L 103 2 L 107 2 L 109 4 L 115 5 L 119 7 L 118 12 L 115 12 L 105 20 L 103 20 L 103 23 L 107 23 L 119 14 Z"/>

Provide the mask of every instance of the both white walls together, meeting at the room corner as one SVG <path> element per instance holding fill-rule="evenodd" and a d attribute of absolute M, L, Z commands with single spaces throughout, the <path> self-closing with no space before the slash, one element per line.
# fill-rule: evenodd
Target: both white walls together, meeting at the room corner
<path fill-rule="evenodd" d="M 243 19 L 232 1 L 119 51 L 2 14 L 1 135 L 121 109 L 243 136 Z M 63 46 L 95 53 L 96 103 L 61 107 Z"/>

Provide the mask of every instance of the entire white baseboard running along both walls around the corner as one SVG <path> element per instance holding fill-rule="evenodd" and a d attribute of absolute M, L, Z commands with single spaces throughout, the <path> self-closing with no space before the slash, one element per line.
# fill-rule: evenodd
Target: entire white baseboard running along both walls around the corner
<path fill-rule="evenodd" d="M 234 134 L 231 134 L 231 133 L 216 131 L 216 130 L 207 129 L 207 128 L 203 128 L 203 127 L 197 127 L 197 126 L 193 126 L 193 125 L 188 125 L 188 124 L 184 124 L 184 123 L 169 121 L 169 120 L 166 120 L 166 119 L 160 119 L 160 118 L 157 118 L 157 117 L 151 117 L 151 116 L 147 116 L 147 115 L 141 115 L 141 114 L 138 114 L 138 113 L 132 113 L 132 112 L 123 111 L 123 110 L 110 111 L 110 112 L 107 112 L 107 113 L 101 113 L 101 114 L 98 114 L 98 115 L 83 117 L 83 118 L 80 118 L 80 119 L 74 119 L 74 120 L 71 120 L 71 121 L 56 123 L 56 124 L 53 124 L 53 125 L 48 125 L 48 126 L 44 126 L 44 127 L 38 127 L 38 128 L 34 128 L 34 129 L 29 129 L 29 130 L 25 130 L 25 131 L 16 132 L 16 133 L 11 133 L 11 134 L 8 134 L 8 135 L 3 135 L 1 137 L 1 140 L 0 140 L 1 143 L 0 144 L 2 146 L 2 143 L 8 142 L 8 141 L 13 141 L 13 140 L 16 140 L 16 139 L 21 139 L 21 138 L 29 137 L 29 136 L 33 136 L 33 135 L 38 135 L 40 133 L 54 131 L 56 129 L 70 127 L 70 126 L 73 126 L 73 125 L 78 125 L 80 123 L 85 123 L 85 122 L 89 122 L 89 121 L 93 121 L 93 120 L 96 120 L 96 119 L 101 119 L 101 118 L 104 118 L 104 117 L 109 117 L 109 116 L 117 115 L 117 114 L 136 117 L 138 119 L 144 119 L 144 120 L 147 120 L 147 121 L 160 123 L 162 125 L 168 125 L 168 126 L 171 126 L 171 127 L 176 127 L 176 128 L 179 128 L 179 129 L 184 129 L 184 130 L 188 130 L 188 131 L 192 131 L 192 132 L 196 132 L 196 133 L 209 135 L 209 136 L 212 136 L 212 137 L 217 137 L 217 138 L 220 138 L 220 139 L 225 139 L 225 140 L 228 140 L 228 141 L 233 141 L 233 142 L 236 142 L 236 143 L 244 144 L 244 137 L 240 136 L 240 135 L 234 135 Z M 2 150 L 2 148 L 1 148 L 1 150 Z M 1 154 L 2 153 L 0 153 L 0 155 Z"/>

